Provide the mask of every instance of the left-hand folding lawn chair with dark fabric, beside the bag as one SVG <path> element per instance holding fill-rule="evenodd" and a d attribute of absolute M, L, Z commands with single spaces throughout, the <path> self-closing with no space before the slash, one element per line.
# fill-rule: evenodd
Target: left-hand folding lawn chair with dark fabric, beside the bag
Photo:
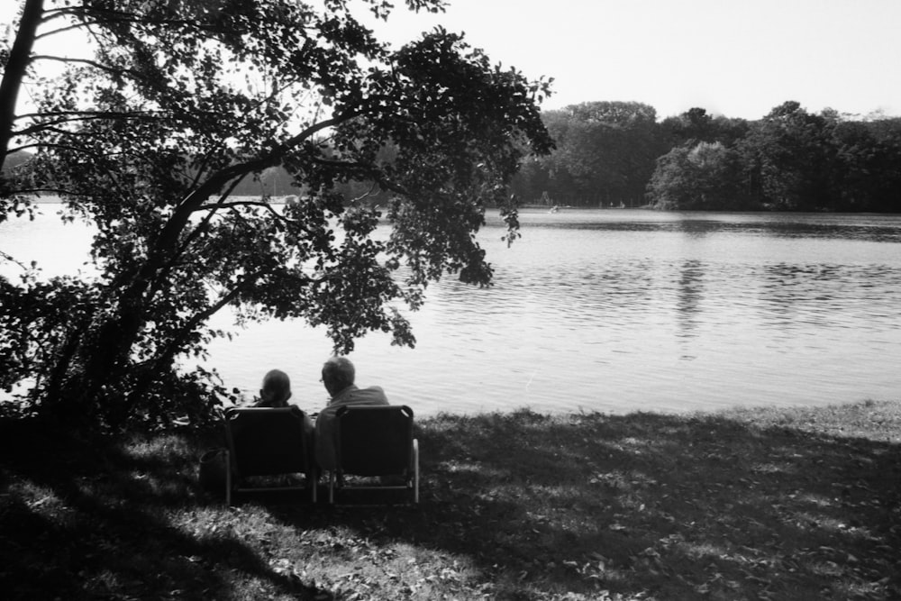
<path fill-rule="evenodd" d="M 312 457 L 312 433 L 304 428 L 305 415 L 296 406 L 231 407 L 225 410 L 228 443 L 225 503 L 232 505 L 233 492 L 285 491 L 310 488 L 316 501 L 316 465 Z M 247 478 L 303 474 L 300 484 L 284 482 L 259 485 Z"/>

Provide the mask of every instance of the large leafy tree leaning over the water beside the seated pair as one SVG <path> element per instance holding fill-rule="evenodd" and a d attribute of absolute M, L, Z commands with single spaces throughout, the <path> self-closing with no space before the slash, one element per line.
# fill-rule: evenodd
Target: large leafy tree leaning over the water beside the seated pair
<path fill-rule="evenodd" d="M 100 276 L 3 282 L 0 350 L 16 351 L 4 383 L 38 378 L 41 412 L 111 430 L 200 419 L 206 374 L 177 358 L 225 334 L 206 323 L 228 305 L 242 320 L 323 325 L 336 351 L 372 330 L 413 344 L 396 304 L 417 308 L 446 274 L 487 285 L 484 209 L 505 206 L 512 241 L 505 185 L 525 152 L 551 150 L 537 108 L 549 82 L 441 28 L 392 50 L 344 0 L 47 4 L 41 23 L 89 32 L 96 56 L 69 60 L 15 119 L 12 138 L 36 155 L 12 184 L 96 225 Z M 388 2 L 363 4 L 389 16 Z M 232 196 L 277 167 L 302 202 Z M 351 181 L 394 195 L 387 240 L 371 235 L 374 208 L 344 204 Z"/>

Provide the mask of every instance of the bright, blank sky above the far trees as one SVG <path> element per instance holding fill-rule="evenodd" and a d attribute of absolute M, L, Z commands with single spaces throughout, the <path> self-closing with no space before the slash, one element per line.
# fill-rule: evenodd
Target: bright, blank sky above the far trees
<path fill-rule="evenodd" d="M 796 100 L 901 116 L 901 0 L 449 0 L 439 15 L 394 1 L 388 23 L 366 20 L 385 39 L 465 32 L 495 62 L 553 77 L 545 109 L 618 100 L 660 119 L 694 106 L 758 119 Z M 0 0 L 0 23 L 14 5 Z"/>

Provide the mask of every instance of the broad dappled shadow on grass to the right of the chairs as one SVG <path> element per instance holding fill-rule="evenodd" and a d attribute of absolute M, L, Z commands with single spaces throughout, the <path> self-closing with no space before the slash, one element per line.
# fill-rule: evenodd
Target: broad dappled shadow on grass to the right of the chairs
<path fill-rule="evenodd" d="M 487 582 L 505 598 L 901 595 L 897 443 L 798 425 L 723 415 L 442 416 L 420 433 L 419 510 L 281 517 L 467 558 L 456 571 L 469 590 Z"/>

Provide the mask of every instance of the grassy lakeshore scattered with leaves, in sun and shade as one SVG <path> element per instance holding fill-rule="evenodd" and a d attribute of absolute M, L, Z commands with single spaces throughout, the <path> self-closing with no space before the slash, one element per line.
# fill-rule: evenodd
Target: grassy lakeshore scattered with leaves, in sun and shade
<path fill-rule="evenodd" d="M 418 507 L 226 508 L 196 482 L 207 442 L 6 424 L 0 595 L 901 598 L 901 402 L 418 428 Z"/>

